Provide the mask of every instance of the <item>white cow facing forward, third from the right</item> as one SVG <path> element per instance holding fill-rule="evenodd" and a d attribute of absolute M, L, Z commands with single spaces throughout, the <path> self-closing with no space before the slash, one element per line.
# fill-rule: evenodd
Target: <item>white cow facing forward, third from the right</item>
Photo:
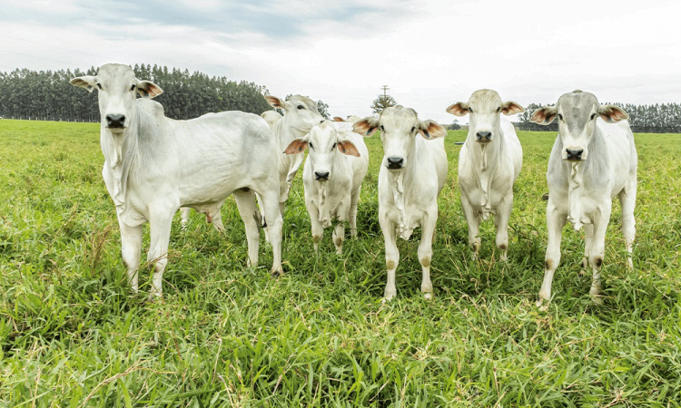
<path fill-rule="evenodd" d="M 396 237 L 409 239 L 421 227 L 419 262 L 423 272 L 421 292 L 432 296 L 430 261 L 432 239 L 438 221 L 438 196 L 447 179 L 447 131 L 435 121 L 419 121 L 413 109 L 386 108 L 380 117 L 364 118 L 354 131 L 370 136 L 380 130 L 384 156 L 379 173 L 379 221 L 385 239 L 388 282 L 384 296 L 397 294 L 395 270 L 400 262 Z M 419 137 L 418 135 L 422 137 Z M 433 140 L 435 139 L 435 140 Z"/>

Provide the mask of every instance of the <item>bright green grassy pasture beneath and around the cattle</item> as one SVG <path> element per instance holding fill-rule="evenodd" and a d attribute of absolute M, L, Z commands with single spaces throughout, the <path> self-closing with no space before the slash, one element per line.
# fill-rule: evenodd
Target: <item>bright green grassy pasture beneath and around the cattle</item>
<path fill-rule="evenodd" d="M 270 276 L 264 238 L 261 266 L 245 267 L 228 199 L 224 235 L 196 213 L 182 232 L 178 214 L 163 299 L 148 302 L 151 267 L 141 268 L 139 295 L 125 281 L 98 127 L 0 121 L 0 406 L 681 406 L 681 135 L 636 135 L 634 270 L 617 202 L 605 304 L 592 304 L 590 272 L 579 274 L 583 233 L 566 227 L 554 298 L 540 311 L 555 133 L 519 132 L 524 167 L 504 264 L 491 221 L 479 260 L 471 256 L 454 144 L 465 132 L 449 132 L 431 301 L 419 290 L 417 230 L 399 241 L 398 296 L 381 303 L 376 135 L 359 239 L 342 256 L 327 229 L 314 257 L 299 174 L 283 277 Z"/>

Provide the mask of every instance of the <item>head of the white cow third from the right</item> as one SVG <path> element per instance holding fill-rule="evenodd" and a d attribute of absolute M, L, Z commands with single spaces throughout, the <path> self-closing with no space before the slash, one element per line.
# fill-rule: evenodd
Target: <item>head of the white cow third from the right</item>
<path fill-rule="evenodd" d="M 419 121 L 413 109 L 400 105 L 386 108 L 379 118 L 367 117 L 353 126 L 353 131 L 365 137 L 378 130 L 383 143 L 382 165 L 389 170 L 400 170 L 409 164 L 417 133 L 427 140 L 447 135 L 445 128 L 435 121 Z"/>

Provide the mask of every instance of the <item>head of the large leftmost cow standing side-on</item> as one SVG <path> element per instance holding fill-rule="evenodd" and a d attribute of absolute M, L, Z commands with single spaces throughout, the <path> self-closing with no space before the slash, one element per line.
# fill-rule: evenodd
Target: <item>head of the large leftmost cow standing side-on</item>
<path fill-rule="evenodd" d="M 114 133 L 123 132 L 130 123 L 138 93 L 145 98 L 163 93 L 161 87 L 150 81 L 138 80 L 131 67 L 119 63 L 102 65 L 96 75 L 79 76 L 72 79 L 71 84 L 90 92 L 94 89 L 99 92 L 102 123 Z"/>

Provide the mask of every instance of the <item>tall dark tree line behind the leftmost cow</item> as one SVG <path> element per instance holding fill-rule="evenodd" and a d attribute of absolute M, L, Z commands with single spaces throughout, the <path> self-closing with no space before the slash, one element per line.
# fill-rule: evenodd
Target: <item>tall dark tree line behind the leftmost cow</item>
<path fill-rule="evenodd" d="M 157 83 L 163 93 L 154 101 L 163 104 L 166 116 L 191 119 L 208 112 L 242 111 L 261 114 L 271 111 L 263 95 L 267 88 L 223 76 L 169 69 L 166 66 L 135 64 L 137 78 Z M 76 76 L 95 75 L 97 68 L 81 70 L 0 72 L 0 117 L 41 121 L 100 121 L 97 92 L 84 92 L 69 81 Z M 317 102 L 324 117 L 327 105 Z"/>

